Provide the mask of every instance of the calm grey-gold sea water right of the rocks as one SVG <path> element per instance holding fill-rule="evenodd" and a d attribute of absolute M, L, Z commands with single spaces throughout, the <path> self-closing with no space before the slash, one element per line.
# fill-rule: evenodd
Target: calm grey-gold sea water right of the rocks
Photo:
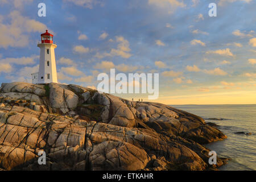
<path fill-rule="evenodd" d="M 256 105 L 171 105 L 219 125 L 228 138 L 205 145 L 217 156 L 231 158 L 220 170 L 256 170 Z M 251 133 L 235 134 L 236 132 Z"/>

